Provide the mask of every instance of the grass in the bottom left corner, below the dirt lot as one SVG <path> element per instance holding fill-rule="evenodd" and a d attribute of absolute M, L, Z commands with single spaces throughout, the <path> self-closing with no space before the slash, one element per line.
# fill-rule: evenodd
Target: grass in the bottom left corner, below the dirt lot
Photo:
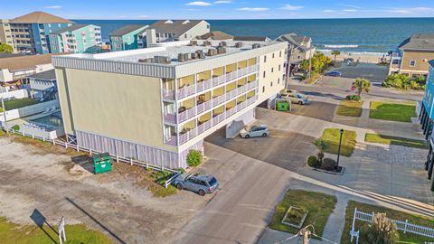
<path fill-rule="evenodd" d="M 52 226 L 57 231 L 57 226 Z M 43 230 L 42 230 L 43 229 Z M 18 225 L 0 217 L 0 237 L 2 243 L 45 244 L 59 241 L 59 237 L 46 224 L 41 228 L 36 225 Z M 45 230 L 45 232 L 44 232 Z M 84 224 L 65 225 L 66 241 L 63 243 L 106 244 L 112 243 L 103 233 L 89 230 Z M 52 239 L 56 241 L 52 241 Z"/>

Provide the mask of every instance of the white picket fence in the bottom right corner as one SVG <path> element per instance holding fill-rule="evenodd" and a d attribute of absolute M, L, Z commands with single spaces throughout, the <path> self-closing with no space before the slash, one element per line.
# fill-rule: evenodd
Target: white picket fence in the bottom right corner
<path fill-rule="evenodd" d="M 354 231 L 354 221 L 365 221 L 365 222 L 373 222 L 374 212 L 363 212 L 358 211 L 357 208 L 354 208 L 354 217 L 353 217 L 353 228 Z M 396 221 L 389 219 L 394 222 L 398 228 L 398 230 L 402 230 L 405 233 L 409 232 L 411 234 L 424 236 L 428 238 L 434 238 L 434 229 L 426 226 L 421 226 L 417 224 L 410 223 L 408 220 L 405 221 Z"/>

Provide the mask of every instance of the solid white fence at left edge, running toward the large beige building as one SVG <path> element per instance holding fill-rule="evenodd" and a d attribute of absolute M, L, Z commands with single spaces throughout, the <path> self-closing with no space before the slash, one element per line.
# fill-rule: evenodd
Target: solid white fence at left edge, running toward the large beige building
<path fill-rule="evenodd" d="M 60 108 L 59 100 L 57 99 L 33 104 L 23 108 L 8 110 L 6 111 L 6 119 L 7 121 L 10 121 L 16 118 L 27 117 L 34 114 L 42 113 L 47 109 L 54 110 L 55 108 Z M 3 117 L 3 113 L 0 113 L 0 121 L 5 121 L 5 118 Z"/>

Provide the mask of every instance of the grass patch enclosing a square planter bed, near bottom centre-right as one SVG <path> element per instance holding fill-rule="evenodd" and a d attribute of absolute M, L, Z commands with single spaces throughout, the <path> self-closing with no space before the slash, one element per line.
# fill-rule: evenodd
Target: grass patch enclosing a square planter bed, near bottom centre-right
<path fill-rule="evenodd" d="M 312 224 L 315 227 L 316 234 L 322 236 L 325 221 L 327 221 L 328 216 L 335 209 L 336 202 L 337 199 L 335 196 L 325 193 L 288 190 L 283 200 L 276 206 L 273 217 L 271 217 L 271 222 L 269 223 L 269 228 L 297 234 L 298 230 L 296 228 L 281 223 L 288 208 L 295 206 L 304 211 L 309 211 L 302 228 Z"/>

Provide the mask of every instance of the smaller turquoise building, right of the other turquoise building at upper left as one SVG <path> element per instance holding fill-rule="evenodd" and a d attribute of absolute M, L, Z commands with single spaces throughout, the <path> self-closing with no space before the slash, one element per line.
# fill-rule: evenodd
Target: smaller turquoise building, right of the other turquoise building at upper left
<path fill-rule="evenodd" d="M 142 41 L 143 35 L 140 34 L 144 33 L 147 27 L 148 25 L 129 24 L 110 33 L 111 52 L 143 48 L 144 46 L 139 46 L 138 42 Z"/>

